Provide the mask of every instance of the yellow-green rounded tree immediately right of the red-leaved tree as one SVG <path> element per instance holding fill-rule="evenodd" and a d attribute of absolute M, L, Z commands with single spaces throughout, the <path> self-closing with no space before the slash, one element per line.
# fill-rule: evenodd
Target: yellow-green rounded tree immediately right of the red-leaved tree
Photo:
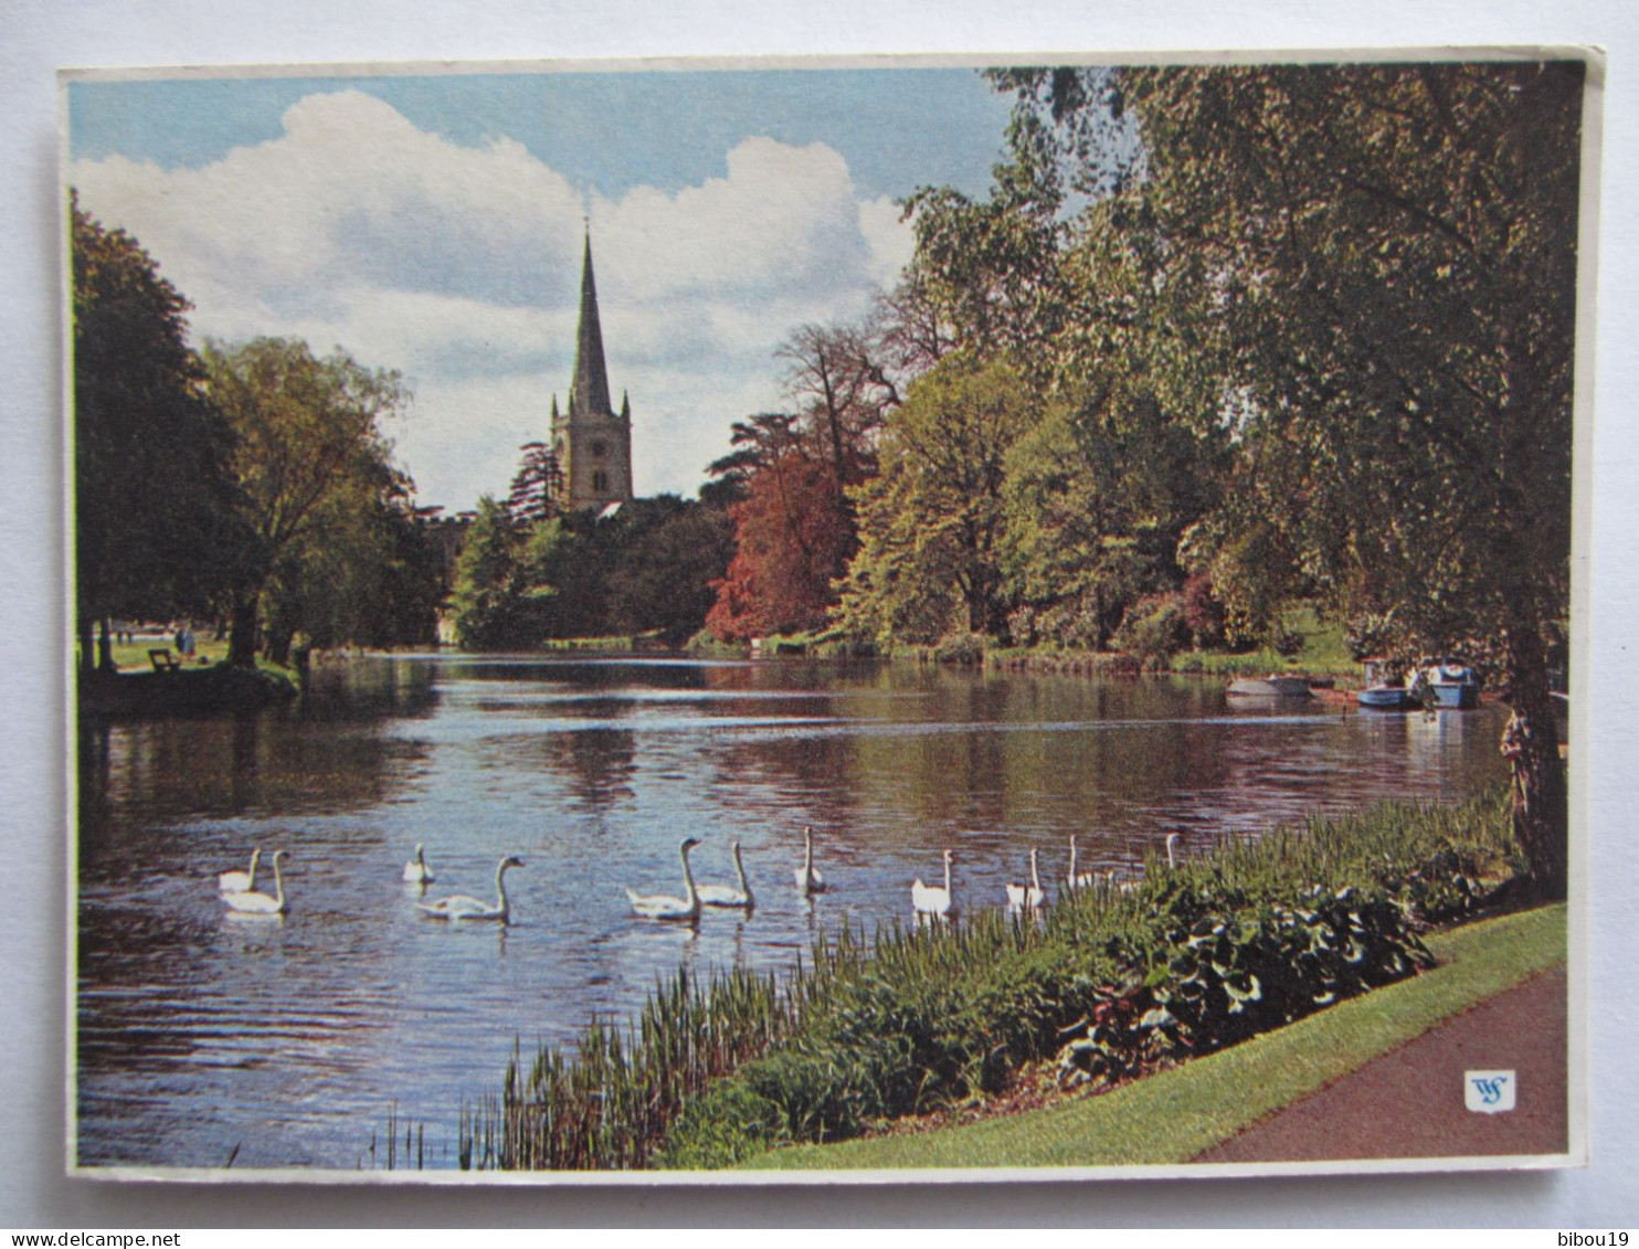
<path fill-rule="evenodd" d="M 860 549 L 842 582 L 846 633 L 887 644 L 1003 636 L 1005 464 L 1036 410 L 1005 364 L 952 356 L 911 384 L 887 418 L 880 474 L 852 492 Z"/>

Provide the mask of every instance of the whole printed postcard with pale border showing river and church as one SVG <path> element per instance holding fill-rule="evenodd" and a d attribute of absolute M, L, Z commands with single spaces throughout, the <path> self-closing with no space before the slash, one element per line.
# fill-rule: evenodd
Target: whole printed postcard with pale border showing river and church
<path fill-rule="evenodd" d="M 1585 1160 L 1601 75 L 62 72 L 69 1172 Z"/>

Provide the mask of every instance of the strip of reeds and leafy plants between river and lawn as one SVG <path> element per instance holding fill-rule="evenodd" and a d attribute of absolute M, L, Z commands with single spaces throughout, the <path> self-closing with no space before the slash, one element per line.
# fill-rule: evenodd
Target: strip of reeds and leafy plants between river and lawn
<path fill-rule="evenodd" d="M 939 1123 L 1049 1069 L 1064 1087 L 1144 1082 L 1413 975 L 1431 962 L 1418 928 L 1483 913 L 1511 870 L 1500 797 L 1383 805 L 1152 857 L 1141 880 L 1060 895 L 1039 921 L 987 910 L 870 944 L 844 933 L 783 983 L 680 975 L 629 1031 L 600 1024 L 574 1054 L 515 1064 L 462 1152 L 498 1169 L 715 1169 Z"/>

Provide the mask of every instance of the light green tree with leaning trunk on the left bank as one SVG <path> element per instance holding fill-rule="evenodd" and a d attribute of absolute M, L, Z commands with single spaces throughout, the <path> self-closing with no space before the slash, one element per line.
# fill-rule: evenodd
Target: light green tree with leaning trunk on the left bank
<path fill-rule="evenodd" d="M 390 559 L 379 520 L 413 487 L 392 464 L 379 421 L 403 406 L 397 374 L 305 343 L 205 347 L 210 395 L 238 434 L 233 466 L 251 543 L 233 593 L 228 659 L 252 664 L 269 628 L 275 651 L 303 628 L 323 587 L 359 588 Z"/>

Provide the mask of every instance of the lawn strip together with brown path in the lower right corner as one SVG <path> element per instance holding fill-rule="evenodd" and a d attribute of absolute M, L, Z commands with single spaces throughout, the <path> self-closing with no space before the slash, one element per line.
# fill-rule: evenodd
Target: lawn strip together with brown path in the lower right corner
<path fill-rule="evenodd" d="M 769 1151 L 741 1169 L 1560 1154 L 1565 939 L 1562 905 L 1446 929 L 1428 938 L 1432 970 L 1100 1097 L 1059 1095 L 1011 1115 L 975 1108 L 969 1123 Z M 1500 1067 L 1518 1074 L 1518 1111 L 1464 1110 L 1464 1072 Z"/>

